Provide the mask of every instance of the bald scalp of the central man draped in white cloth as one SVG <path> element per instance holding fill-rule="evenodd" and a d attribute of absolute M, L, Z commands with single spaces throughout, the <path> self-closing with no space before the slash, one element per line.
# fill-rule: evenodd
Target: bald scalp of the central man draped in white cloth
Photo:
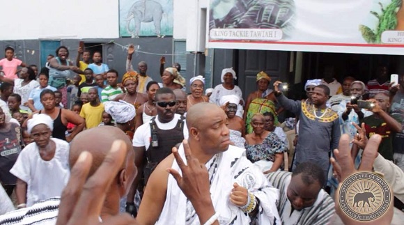
<path fill-rule="evenodd" d="M 217 104 L 212 104 L 208 102 L 201 102 L 194 104 L 187 111 L 187 127 L 188 130 L 191 127 L 200 128 L 202 123 L 205 123 L 210 118 L 210 113 L 222 113 L 225 114 L 223 109 L 217 106 Z"/>

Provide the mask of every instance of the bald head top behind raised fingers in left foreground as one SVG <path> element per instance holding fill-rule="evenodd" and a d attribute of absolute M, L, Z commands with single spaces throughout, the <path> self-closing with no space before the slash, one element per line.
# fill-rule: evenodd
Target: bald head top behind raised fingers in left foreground
<path fill-rule="evenodd" d="M 93 155 L 93 164 L 91 165 L 90 173 L 88 174 L 88 176 L 91 176 L 102 164 L 104 157 L 111 149 L 112 143 L 118 139 L 125 141 L 127 145 L 127 155 L 134 154 L 130 139 L 117 127 L 94 127 L 80 132 L 70 143 L 70 168 L 75 164 L 80 153 L 86 150 Z M 125 168 L 125 163 L 126 160 L 121 166 L 122 169 Z"/>

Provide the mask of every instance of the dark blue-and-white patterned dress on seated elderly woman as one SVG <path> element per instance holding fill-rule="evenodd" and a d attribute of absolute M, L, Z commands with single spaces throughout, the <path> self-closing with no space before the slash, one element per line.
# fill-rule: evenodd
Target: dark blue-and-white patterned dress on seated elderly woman
<path fill-rule="evenodd" d="M 277 134 L 270 132 L 263 143 L 253 145 L 245 143 L 245 149 L 247 149 L 247 159 L 253 163 L 260 160 L 274 162 L 275 154 L 283 153 L 286 150 L 286 145 Z"/>

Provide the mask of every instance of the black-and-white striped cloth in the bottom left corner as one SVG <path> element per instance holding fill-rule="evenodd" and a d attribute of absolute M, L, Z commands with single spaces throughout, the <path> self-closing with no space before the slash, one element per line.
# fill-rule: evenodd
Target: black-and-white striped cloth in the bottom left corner
<path fill-rule="evenodd" d="M 0 216 L 0 224 L 56 224 L 59 197 L 40 201 L 31 207 L 15 210 Z"/>

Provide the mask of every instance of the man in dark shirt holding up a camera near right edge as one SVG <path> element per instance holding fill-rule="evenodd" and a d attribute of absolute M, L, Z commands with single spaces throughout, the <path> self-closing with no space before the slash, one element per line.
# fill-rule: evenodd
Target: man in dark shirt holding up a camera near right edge
<path fill-rule="evenodd" d="M 380 134 L 382 142 L 379 146 L 379 154 L 386 160 L 393 160 L 393 137 L 395 133 L 401 132 L 401 121 L 397 116 L 390 116 L 387 109 L 390 107 L 389 95 L 387 93 L 378 93 L 375 98 L 368 100 L 368 110 L 373 115 L 361 120 L 364 123 L 368 137 L 373 134 Z"/>

